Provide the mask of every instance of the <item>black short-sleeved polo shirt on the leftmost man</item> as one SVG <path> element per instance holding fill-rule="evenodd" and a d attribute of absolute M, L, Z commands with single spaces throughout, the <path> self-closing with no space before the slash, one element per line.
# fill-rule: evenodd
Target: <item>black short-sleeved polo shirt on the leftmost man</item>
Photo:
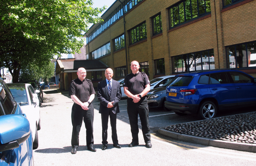
<path fill-rule="evenodd" d="M 81 102 L 87 102 L 92 94 L 96 94 L 91 80 L 78 78 L 71 81 L 68 95 L 75 95 Z"/>

